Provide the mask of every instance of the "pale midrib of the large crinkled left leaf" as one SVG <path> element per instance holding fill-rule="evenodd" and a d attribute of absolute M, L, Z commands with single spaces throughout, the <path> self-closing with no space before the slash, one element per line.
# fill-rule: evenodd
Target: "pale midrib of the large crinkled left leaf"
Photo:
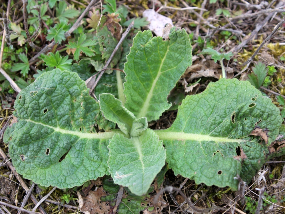
<path fill-rule="evenodd" d="M 111 139 L 113 135 L 116 133 L 122 133 L 121 131 L 108 131 L 108 132 L 98 132 L 98 133 L 88 133 L 88 132 L 80 132 L 80 131 L 71 131 L 71 130 L 66 130 L 62 129 L 60 127 L 53 127 L 50 125 L 46 125 L 44 123 L 39 123 L 32 121 L 31 119 L 24 119 L 27 122 L 34 123 L 34 124 L 39 124 L 45 127 L 48 127 L 50 129 L 53 129 L 55 132 L 60 132 L 62 134 L 70 134 L 70 135 L 75 135 L 78 136 L 79 138 L 87 138 L 87 139 Z"/>

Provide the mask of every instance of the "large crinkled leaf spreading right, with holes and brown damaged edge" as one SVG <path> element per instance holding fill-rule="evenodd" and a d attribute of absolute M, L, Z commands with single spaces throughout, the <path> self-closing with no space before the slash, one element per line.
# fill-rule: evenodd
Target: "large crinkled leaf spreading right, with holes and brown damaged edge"
<path fill-rule="evenodd" d="M 248 137 L 262 129 L 271 143 L 282 123 L 279 109 L 248 81 L 220 79 L 187 96 L 169 129 L 157 130 L 168 166 L 208 186 L 237 189 L 239 174 L 249 182 L 268 153 L 265 143 Z"/>

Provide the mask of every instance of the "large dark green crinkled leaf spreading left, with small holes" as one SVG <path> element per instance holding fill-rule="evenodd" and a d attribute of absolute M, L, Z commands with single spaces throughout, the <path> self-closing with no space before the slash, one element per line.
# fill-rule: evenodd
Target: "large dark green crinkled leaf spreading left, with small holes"
<path fill-rule="evenodd" d="M 109 174 L 107 145 L 115 132 L 95 132 L 99 104 L 88 91 L 77 73 L 54 69 L 19 93 L 18 122 L 4 138 L 18 173 L 61 189 Z"/>

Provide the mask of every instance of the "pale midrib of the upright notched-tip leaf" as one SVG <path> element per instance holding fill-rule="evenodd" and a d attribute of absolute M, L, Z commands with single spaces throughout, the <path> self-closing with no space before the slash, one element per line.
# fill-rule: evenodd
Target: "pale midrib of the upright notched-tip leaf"
<path fill-rule="evenodd" d="M 161 72 L 162 65 L 164 63 L 164 60 L 166 59 L 168 51 L 169 51 L 169 45 L 167 46 L 167 51 L 166 51 L 163 59 L 161 60 L 160 67 L 159 67 L 159 70 L 157 72 L 157 75 L 156 75 L 154 81 L 152 82 L 152 86 L 150 88 L 150 91 L 148 92 L 148 95 L 146 96 L 146 99 L 144 101 L 143 107 L 141 108 L 141 111 L 137 115 L 137 118 L 146 117 L 146 114 L 147 114 L 147 111 L 148 111 L 148 107 L 150 105 L 150 99 L 152 98 L 153 90 L 154 90 L 154 87 L 156 86 L 156 82 L 158 81 L 160 75 L 162 74 L 162 72 Z"/>

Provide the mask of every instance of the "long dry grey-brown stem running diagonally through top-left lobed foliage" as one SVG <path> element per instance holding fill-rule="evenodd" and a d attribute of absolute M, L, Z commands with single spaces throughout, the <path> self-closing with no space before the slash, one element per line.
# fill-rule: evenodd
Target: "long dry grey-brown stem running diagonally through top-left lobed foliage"
<path fill-rule="evenodd" d="M 24 1 L 24 0 L 23 0 Z M 83 17 L 85 16 L 85 14 L 90 10 L 90 8 L 93 6 L 93 4 L 95 3 L 96 0 L 92 0 L 90 2 L 90 4 L 85 8 L 85 10 L 83 11 L 83 13 L 79 16 L 79 18 L 77 19 L 77 21 L 73 24 L 73 26 L 64 34 L 65 38 L 70 36 L 70 34 L 77 29 L 77 27 L 79 27 L 81 20 L 83 19 Z M 49 45 L 46 45 L 43 49 L 41 49 L 39 51 L 39 53 L 37 53 L 35 56 L 33 56 L 30 60 L 29 60 L 29 64 L 32 65 L 33 63 L 35 63 L 38 60 L 38 57 L 42 54 L 42 53 L 46 53 L 47 51 L 49 51 L 50 49 L 52 49 L 52 47 L 55 45 L 55 41 L 51 42 Z"/>

